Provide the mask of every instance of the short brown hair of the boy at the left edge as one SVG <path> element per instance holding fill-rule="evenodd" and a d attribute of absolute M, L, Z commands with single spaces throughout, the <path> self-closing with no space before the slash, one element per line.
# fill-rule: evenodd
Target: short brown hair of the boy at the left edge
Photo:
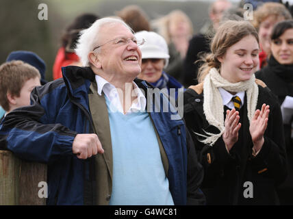
<path fill-rule="evenodd" d="M 10 110 L 7 94 L 20 96 L 21 88 L 29 79 L 40 78 L 37 68 L 23 61 L 5 62 L 0 66 L 0 105 Z"/>

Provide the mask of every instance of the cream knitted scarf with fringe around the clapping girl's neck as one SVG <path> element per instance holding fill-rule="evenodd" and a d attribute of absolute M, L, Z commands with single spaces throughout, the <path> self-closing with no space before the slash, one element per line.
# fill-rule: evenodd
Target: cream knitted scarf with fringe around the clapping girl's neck
<path fill-rule="evenodd" d="M 203 81 L 203 112 L 205 118 L 210 125 L 214 125 L 220 130 L 220 133 L 208 133 L 207 136 L 196 133 L 205 137 L 201 140 L 204 144 L 213 144 L 222 136 L 225 131 L 224 126 L 224 105 L 222 104 L 222 96 L 218 88 L 223 88 L 230 92 L 246 92 L 247 99 L 247 116 L 249 121 L 253 118 L 257 105 L 258 87 L 255 83 L 255 75 L 252 75 L 248 81 L 240 81 L 238 83 L 230 83 L 224 79 L 216 68 L 209 70 L 209 74 Z"/>

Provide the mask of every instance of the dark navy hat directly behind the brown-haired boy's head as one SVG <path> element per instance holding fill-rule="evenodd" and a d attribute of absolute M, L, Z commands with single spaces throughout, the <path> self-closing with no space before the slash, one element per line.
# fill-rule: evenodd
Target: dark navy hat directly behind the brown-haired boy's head
<path fill-rule="evenodd" d="M 44 60 L 36 53 L 32 51 L 12 51 L 8 57 L 6 58 L 6 62 L 11 62 L 13 60 L 21 60 L 31 66 L 34 66 L 38 69 L 40 73 L 40 84 L 44 85 L 48 81 L 45 79 L 46 77 L 46 64 Z"/>

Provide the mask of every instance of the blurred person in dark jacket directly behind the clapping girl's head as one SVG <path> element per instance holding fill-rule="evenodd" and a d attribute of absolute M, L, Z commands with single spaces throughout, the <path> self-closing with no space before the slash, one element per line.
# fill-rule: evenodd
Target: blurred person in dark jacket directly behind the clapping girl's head
<path fill-rule="evenodd" d="M 186 58 L 183 60 L 183 86 L 186 88 L 198 83 L 197 73 L 201 66 L 201 53 L 208 53 L 210 39 L 214 36 L 225 10 L 231 8 L 227 0 L 214 1 L 209 6 L 209 21 L 201 28 L 200 34 L 196 34 L 189 42 Z"/>

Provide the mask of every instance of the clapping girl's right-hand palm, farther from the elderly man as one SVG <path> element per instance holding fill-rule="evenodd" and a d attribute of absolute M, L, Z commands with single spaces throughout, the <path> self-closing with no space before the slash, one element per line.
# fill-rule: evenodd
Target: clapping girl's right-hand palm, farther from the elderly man
<path fill-rule="evenodd" d="M 253 147 L 255 152 L 262 149 L 264 144 L 264 131 L 268 126 L 268 114 L 270 113 L 270 106 L 263 104 L 262 110 L 255 110 L 249 131 L 253 140 Z"/>

